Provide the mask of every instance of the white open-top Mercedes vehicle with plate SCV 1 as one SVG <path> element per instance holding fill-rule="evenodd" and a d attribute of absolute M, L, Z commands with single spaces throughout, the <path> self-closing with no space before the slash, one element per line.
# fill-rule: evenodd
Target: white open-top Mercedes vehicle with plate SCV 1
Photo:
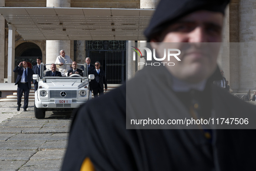
<path fill-rule="evenodd" d="M 41 63 L 40 68 L 44 68 L 43 63 Z M 84 68 L 87 68 L 86 63 L 84 63 Z M 37 119 L 45 118 L 45 111 L 47 110 L 72 110 L 91 99 L 89 81 L 94 79 L 94 74 L 88 76 L 87 70 L 85 70 L 83 77 L 79 74 L 72 74 L 70 77 L 45 77 L 45 72 L 40 71 L 41 77 L 38 74 L 33 74 L 33 79 L 38 81 L 34 105 Z"/>

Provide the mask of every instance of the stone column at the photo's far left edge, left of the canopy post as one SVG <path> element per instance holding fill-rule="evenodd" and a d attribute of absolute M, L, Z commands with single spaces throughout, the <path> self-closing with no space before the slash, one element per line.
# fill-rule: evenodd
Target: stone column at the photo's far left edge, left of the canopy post
<path fill-rule="evenodd" d="M 1 0 L 0 1 L 0 6 L 5 6 L 5 0 Z M 4 78 L 4 24 L 5 24 L 5 20 L 3 18 L 3 16 L 0 16 L 0 83 L 3 83 L 3 78 Z"/>

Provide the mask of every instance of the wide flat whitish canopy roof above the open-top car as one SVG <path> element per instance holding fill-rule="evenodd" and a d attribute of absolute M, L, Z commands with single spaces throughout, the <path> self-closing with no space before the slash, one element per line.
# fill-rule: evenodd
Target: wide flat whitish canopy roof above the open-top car
<path fill-rule="evenodd" d="M 151 9 L 0 7 L 24 40 L 146 40 Z"/>

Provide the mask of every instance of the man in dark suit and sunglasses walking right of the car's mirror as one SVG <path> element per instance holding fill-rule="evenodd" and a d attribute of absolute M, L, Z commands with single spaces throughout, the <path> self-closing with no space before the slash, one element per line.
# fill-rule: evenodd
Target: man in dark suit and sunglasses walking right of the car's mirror
<path fill-rule="evenodd" d="M 92 90 L 94 97 L 98 97 L 98 94 L 101 96 L 104 94 L 104 86 L 105 91 L 107 91 L 107 79 L 105 76 L 105 72 L 100 69 L 100 62 L 95 62 L 95 69 L 91 72 L 94 74 L 94 80 L 92 80 Z"/>

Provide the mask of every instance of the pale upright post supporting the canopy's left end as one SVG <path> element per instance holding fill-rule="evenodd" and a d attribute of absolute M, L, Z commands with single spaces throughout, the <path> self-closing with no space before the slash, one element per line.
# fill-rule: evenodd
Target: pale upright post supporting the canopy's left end
<path fill-rule="evenodd" d="M 14 82 L 14 59 L 15 59 L 15 30 L 16 28 L 8 23 L 8 83 Z M 4 51 L 3 51 L 4 52 Z"/>

